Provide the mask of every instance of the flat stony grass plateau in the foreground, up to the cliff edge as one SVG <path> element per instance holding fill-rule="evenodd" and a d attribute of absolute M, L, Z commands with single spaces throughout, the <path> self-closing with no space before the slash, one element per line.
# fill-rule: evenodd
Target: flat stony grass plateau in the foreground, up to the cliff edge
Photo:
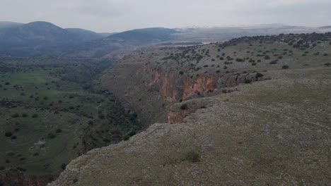
<path fill-rule="evenodd" d="M 178 111 L 199 108 L 179 114 L 181 124 L 153 124 L 89 151 L 50 186 L 329 185 L 331 68 L 268 74 L 272 80 L 238 91 L 182 101 Z"/>

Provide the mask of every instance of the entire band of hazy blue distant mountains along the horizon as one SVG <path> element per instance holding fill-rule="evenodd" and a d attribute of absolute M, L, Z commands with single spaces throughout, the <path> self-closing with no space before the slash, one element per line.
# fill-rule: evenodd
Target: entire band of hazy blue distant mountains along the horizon
<path fill-rule="evenodd" d="M 298 27 L 281 24 L 226 27 L 153 27 L 120 33 L 96 33 L 62 28 L 52 23 L 0 22 L 0 56 L 50 54 L 70 58 L 93 58 L 114 51 L 165 43 L 217 42 L 236 37 L 281 33 L 330 32 L 331 26 Z"/>

